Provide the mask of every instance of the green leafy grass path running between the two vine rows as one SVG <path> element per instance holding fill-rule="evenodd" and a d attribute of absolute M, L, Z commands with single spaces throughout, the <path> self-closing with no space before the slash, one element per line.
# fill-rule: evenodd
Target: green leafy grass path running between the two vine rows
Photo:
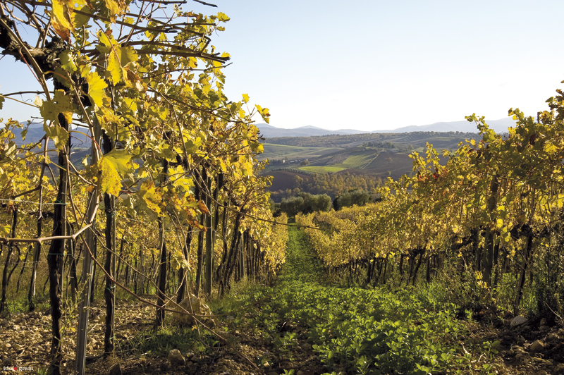
<path fill-rule="evenodd" d="M 429 311 L 401 290 L 324 283 L 307 235 L 298 228 L 290 228 L 288 257 L 276 285 L 255 297 L 262 306 L 253 324 L 271 337 L 281 369 L 310 348 L 323 367 L 302 373 L 436 374 L 457 365 L 463 374 L 470 364 L 470 357 L 457 355 L 464 329 L 453 310 Z"/>

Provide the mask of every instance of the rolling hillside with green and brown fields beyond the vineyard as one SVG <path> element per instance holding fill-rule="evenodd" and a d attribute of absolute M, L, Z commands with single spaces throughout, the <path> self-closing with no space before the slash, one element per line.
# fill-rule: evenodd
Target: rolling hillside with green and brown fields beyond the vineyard
<path fill-rule="evenodd" d="M 362 179 L 386 180 L 391 177 L 397 180 L 404 174 L 412 174 L 413 161 L 410 154 L 417 151 L 424 154 L 427 143 L 442 153 L 443 149 L 458 148 L 465 140 L 481 140 L 477 133 L 461 133 L 460 131 L 434 132 L 417 131 L 410 133 L 362 133 L 350 135 L 324 135 L 309 137 L 274 137 L 264 143 L 264 154 L 258 159 L 269 159 L 269 166 L 264 174 L 274 177 L 269 190 L 272 198 L 278 202 L 290 190 L 300 187 L 312 193 L 319 193 L 321 187 L 316 183 L 296 182 L 295 177 L 320 181 L 319 175 L 328 176 L 326 182 L 350 177 L 362 187 Z M 445 164 L 448 156 L 439 156 L 441 164 Z M 305 162 L 307 160 L 307 162 Z M 303 162 L 303 163 L 302 163 Z M 323 178 L 321 178 L 323 180 Z M 298 179 L 300 181 L 300 179 Z M 324 185 L 325 183 L 321 183 Z M 333 190 L 331 190 L 333 191 Z"/>

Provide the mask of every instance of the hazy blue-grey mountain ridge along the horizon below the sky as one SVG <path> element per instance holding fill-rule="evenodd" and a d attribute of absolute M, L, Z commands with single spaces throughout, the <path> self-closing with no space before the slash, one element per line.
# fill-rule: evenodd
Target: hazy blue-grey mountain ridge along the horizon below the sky
<path fill-rule="evenodd" d="M 486 121 L 490 128 L 496 133 L 507 132 L 510 126 L 515 125 L 515 121 L 508 117 L 501 120 Z M 461 132 L 461 133 L 478 133 L 476 124 L 468 121 L 450 121 L 441 123 L 432 123 L 429 125 L 411 125 L 403 128 L 391 130 L 372 130 L 361 131 L 354 129 L 326 130 L 315 126 L 302 126 L 300 128 L 285 129 L 276 128 L 266 123 L 259 123 L 257 127 L 265 138 L 273 137 L 312 137 L 316 135 L 347 135 L 347 134 L 367 134 L 367 133 L 410 133 L 410 132 Z"/>

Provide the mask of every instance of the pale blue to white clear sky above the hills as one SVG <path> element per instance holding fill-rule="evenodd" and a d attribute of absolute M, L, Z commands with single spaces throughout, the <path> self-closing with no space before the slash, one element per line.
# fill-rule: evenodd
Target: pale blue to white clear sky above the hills
<path fill-rule="evenodd" d="M 564 1 L 207 1 L 218 8 L 185 8 L 231 18 L 212 37 L 232 56 L 227 96 L 249 94 L 278 128 L 498 120 L 511 107 L 536 116 L 564 80 Z M 28 77 L 0 60 L 0 92 Z M 6 104 L 0 117 L 29 113 Z"/>

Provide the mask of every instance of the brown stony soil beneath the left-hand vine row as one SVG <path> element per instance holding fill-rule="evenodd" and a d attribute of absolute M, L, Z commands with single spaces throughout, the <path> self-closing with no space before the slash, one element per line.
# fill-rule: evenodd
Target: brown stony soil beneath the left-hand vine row
<path fill-rule="evenodd" d="M 278 353 L 254 330 L 233 329 L 223 334 L 231 345 L 220 343 L 204 352 L 171 350 L 168 356 L 153 357 L 127 351 L 103 358 L 104 319 L 102 308 L 92 307 L 89 323 L 87 354 L 88 374 L 283 374 L 294 369 L 295 374 L 321 374 L 322 366 L 305 338 L 296 341 L 295 352 Z M 219 321 L 216 331 L 229 325 L 231 316 Z M 151 331 L 154 309 L 135 303 L 118 302 L 116 307 L 116 339 L 123 344 L 134 340 L 135 333 Z M 68 338 L 63 346 L 63 373 L 71 374 L 75 358 L 75 321 L 68 324 Z M 48 367 L 51 345 L 51 316 L 48 312 L 20 313 L 0 321 L 0 359 L 4 371 L 13 367 L 41 371 Z M 298 329 L 298 331 L 300 331 Z M 123 345 L 127 346 L 127 345 Z M 248 359 L 248 360 L 247 360 Z M 250 363 L 252 362 L 252 363 Z M 25 371 L 24 371 L 25 372 Z"/>

